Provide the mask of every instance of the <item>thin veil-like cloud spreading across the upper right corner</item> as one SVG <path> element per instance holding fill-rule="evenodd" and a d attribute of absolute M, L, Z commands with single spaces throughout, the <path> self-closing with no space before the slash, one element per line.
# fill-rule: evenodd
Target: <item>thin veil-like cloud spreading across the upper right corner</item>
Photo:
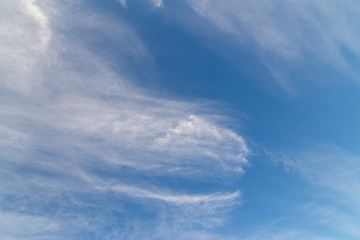
<path fill-rule="evenodd" d="M 233 45 L 258 54 L 277 83 L 288 93 L 304 84 L 338 84 L 317 74 L 329 67 L 357 82 L 354 65 L 360 52 L 356 19 L 359 5 L 341 1 L 213 1 L 185 0 L 211 29 Z M 203 29 L 206 29 L 203 27 Z M 301 69 L 307 69 L 302 71 Z"/>

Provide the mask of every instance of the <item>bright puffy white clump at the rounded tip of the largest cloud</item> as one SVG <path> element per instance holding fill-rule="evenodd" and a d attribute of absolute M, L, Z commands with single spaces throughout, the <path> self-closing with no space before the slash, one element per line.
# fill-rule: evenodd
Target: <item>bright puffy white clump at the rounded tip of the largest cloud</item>
<path fill-rule="evenodd" d="M 219 160 L 225 169 L 230 170 L 231 166 L 232 170 L 240 172 L 243 171 L 242 165 L 247 163 L 245 156 L 249 153 L 241 136 L 195 115 L 180 120 L 154 143 L 153 148 L 172 156 L 209 157 Z M 205 165 L 202 161 L 201 166 Z"/>

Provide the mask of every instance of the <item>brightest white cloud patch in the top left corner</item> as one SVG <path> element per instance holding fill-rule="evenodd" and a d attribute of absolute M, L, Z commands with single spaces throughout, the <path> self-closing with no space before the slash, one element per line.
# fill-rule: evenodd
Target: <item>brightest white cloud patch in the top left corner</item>
<path fill-rule="evenodd" d="M 1 85 L 12 90 L 28 92 L 26 79 L 31 76 L 37 58 L 46 50 L 51 38 L 47 17 L 34 1 L 1 1 L 2 21 L 0 24 L 0 74 Z M 21 17 L 17 17 L 21 16 Z"/>

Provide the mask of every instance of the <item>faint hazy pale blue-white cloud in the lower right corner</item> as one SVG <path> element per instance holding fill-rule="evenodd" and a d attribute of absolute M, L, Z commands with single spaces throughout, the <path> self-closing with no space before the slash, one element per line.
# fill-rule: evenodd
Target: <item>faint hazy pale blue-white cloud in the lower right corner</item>
<path fill-rule="evenodd" d="M 289 150 L 281 161 L 290 172 L 316 187 L 311 200 L 299 206 L 299 214 L 334 236 L 359 238 L 355 220 L 360 213 L 357 155 L 336 145 L 313 143 L 311 148 Z"/>

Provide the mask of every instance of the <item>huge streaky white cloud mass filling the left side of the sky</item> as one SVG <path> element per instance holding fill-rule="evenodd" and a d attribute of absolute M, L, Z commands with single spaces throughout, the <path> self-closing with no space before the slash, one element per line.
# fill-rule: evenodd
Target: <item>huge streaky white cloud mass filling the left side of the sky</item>
<path fill-rule="evenodd" d="M 0 4 L 2 237 L 212 235 L 204 229 L 221 225 L 239 192 L 194 186 L 242 172 L 250 153 L 221 113 L 135 84 L 132 66 L 151 68 L 153 60 L 121 19 L 81 1 Z M 167 186 L 169 179 L 187 179 L 192 190 Z M 31 234 L 9 225 L 17 220 Z M 154 230 L 134 232 L 149 222 Z"/>

